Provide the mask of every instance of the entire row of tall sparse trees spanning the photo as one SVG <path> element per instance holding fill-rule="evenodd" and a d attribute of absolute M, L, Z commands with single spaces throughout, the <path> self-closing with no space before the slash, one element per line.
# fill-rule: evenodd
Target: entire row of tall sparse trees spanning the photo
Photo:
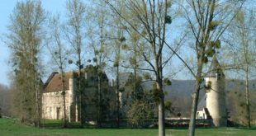
<path fill-rule="evenodd" d="M 42 61 L 45 49 L 61 74 L 72 67 L 80 73 L 88 63 L 97 65 L 99 74 L 109 71 L 116 78 L 116 97 L 121 91 L 119 73 L 124 70 L 153 80 L 159 136 L 165 135 L 164 84 L 171 84 L 175 73 L 187 69 L 196 81 L 188 131 L 194 135 L 201 84 L 216 55 L 225 56 L 223 69 L 235 69 L 247 81 L 244 92 L 250 126 L 248 84 L 255 60 L 255 13 L 248 4 L 245 0 L 68 0 L 64 16 L 51 16 L 40 1 L 17 2 L 6 39 L 12 54 L 12 103 L 17 116 L 40 124 L 41 78 L 44 68 L 50 67 Z M 177 63 L 182 67 L 177 68 Z M 80 94 L 81 80 L 78 76 Z M 140 102 L 136 105 L 140 107 Z"/>

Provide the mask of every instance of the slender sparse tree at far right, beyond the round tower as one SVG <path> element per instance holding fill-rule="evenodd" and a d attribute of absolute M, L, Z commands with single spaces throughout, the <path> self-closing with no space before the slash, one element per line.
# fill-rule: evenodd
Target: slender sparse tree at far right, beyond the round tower
<path fill-rule="evenodd" d="M 231 63 L 235 63 L 236 70 L 242 71 L 245 80 L 245 103 L 247 113 L 247 125 L 251 127 L 250 115 L 250 100 L 249 100 L 249 79 L 255 75 L 255 11 L 245 10 L 242 8 L 234 22 L 232 22 L 228 34 L 225 36 L 225 41 L 230 46 L 227 47 L 228 51 L 225 52 L 229 56 Z"/>

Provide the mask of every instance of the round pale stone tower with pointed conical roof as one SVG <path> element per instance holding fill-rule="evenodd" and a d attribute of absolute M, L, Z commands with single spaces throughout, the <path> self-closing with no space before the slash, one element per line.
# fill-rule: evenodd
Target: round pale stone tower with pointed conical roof
<path fill-rule="evenodd" d="M 227 125 L 225 107 L 225 75 L 216 56 L 206 76 L 206 108 L 209 110 L 216 127 Z"/>

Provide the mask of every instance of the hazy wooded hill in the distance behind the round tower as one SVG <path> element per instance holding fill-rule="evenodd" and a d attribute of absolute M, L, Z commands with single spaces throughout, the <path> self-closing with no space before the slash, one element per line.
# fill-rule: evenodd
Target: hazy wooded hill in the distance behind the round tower
<path fill-rule="evenodd" d="M 236 99 L 239 101 L 244 101 L 244 81 L 242 80 L 233 80 L 227 79 L 225 81 L 225 90 L 226 90 L 226 105 L 229 111 L 233 110 L 232 105 L 238 105 L 234 103 Z M 249 91 L 251 96 L 256 96 L 256 80 L 249 81 Z M 145 82 L 143 84 L 145 90 L 151 90 L 152 82 Z M 189 117 L 190 110 L 192 106 L 192 92 L 195 90 L 195 81 L 194 80 L 172 80 L 171 86 L 165 86 L 165 101 L 171 101 L 174 108 L 173 115 L 181 113 L 182 116 Z M 202 89 L 199 95 L 199 103 L 204 99 L 205 91 Z M 239 98 L 241 97 L 241 98 Z M 255 97 L 256 98 L 256 97 Z M 254 100 L 251 98 L 251 100 Z M 256 103 L 252 101 L 252 106 L 256 106 Z M 253 108 L 252 108 L 253 109 Z M 254 108 L 255 109 L 255 108 Z"/>

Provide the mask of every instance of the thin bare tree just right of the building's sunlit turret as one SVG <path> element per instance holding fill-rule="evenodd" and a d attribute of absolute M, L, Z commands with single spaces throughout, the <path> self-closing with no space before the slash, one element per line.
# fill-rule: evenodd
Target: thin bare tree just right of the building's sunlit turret
<path fill-rule="evenodd" d="M 66 39 L 69 42 L 69 45 L 72 46 L 73 53 L 75 54 L 75 63 L 78 66 L 78 94 L 77 103 L 78 103 L 78 118 L 80 121 L 81 127 L 84 123 L 84 115 L 82 108 L 82 96 L 83 96 L 83 82 L 82 82 L 82 69 L 83 69 L 83 47 L 84 45 L 84 25 L 85 25 L 85 5 L 81 0 L 69 0 L 67 2 L 68 10 L 68 22 L 65 27 Z M 69 61 L 72 63 L 72 61 Z"/>

